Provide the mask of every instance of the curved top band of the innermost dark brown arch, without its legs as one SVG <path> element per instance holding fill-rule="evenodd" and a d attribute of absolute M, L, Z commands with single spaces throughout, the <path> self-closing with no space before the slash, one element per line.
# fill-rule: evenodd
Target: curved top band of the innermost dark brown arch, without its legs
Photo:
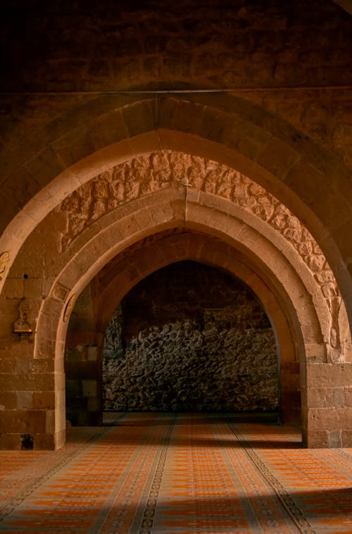
<path fill-rule="evenodd" d="M 151 236 L 151 239 L 135 243 L 115 256 L 99 273 L 99 297 L 97 299 L 97 316 L 99 332 L 106 330 L 115 307 L 138 282 L 151 273 L 177 261 L 192 260 L 206 265 L 222 268 L 243 280 L 257 295 L 268 313 L 270 321 L 277 328 L 277 335 L 284 340 L 289 336 L 287 322 L 275 318 L 280 304 L 263 278 L 249 266 L 244 254 L 234 249 L 218 237 L 205 233 L 179 228 L 164 230 Z M 147 244 L 149 242 L 149 244 Z M 138 265 L 138 269 L 132 268 Z M 108 299 L 113 295 L 113 299 Z M 282 316 L 280 316 L 282 319 Z M 282 329 L 282 330 L 281 330 Z M 281 335 L 280 332 L 285 332 Z M 294 347 L 286 352 L 288 359 L 296 359 Z"/>

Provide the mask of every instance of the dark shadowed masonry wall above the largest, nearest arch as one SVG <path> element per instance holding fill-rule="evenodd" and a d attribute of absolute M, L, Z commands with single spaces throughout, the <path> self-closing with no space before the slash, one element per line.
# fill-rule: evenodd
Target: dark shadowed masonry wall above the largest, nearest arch
<path fill-rule="evenodd" d="M 333 1 L 2 5 L 4 154 L 25 132 L 53 118 L 57 126 L 95 98 L 89 92 L 224 87 L 352 164 L 351 17 Z"/>

